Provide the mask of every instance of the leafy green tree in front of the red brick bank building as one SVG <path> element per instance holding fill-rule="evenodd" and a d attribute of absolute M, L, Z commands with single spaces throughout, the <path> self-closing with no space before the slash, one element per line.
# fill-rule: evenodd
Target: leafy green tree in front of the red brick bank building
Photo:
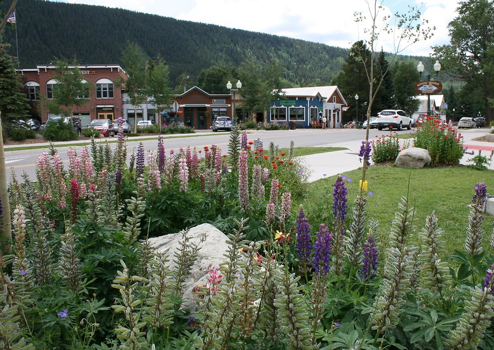
<path fill-rule="evenodd" d="M 75 106 L 85 105 L 89 101 L 89 84 L 82 78 L 79 62 L 74 59 L 69 63 L 67 59 L 55 62 L 52 96 L 45 96 L 43 103 L 49 112 L 72 116 Z"/>

